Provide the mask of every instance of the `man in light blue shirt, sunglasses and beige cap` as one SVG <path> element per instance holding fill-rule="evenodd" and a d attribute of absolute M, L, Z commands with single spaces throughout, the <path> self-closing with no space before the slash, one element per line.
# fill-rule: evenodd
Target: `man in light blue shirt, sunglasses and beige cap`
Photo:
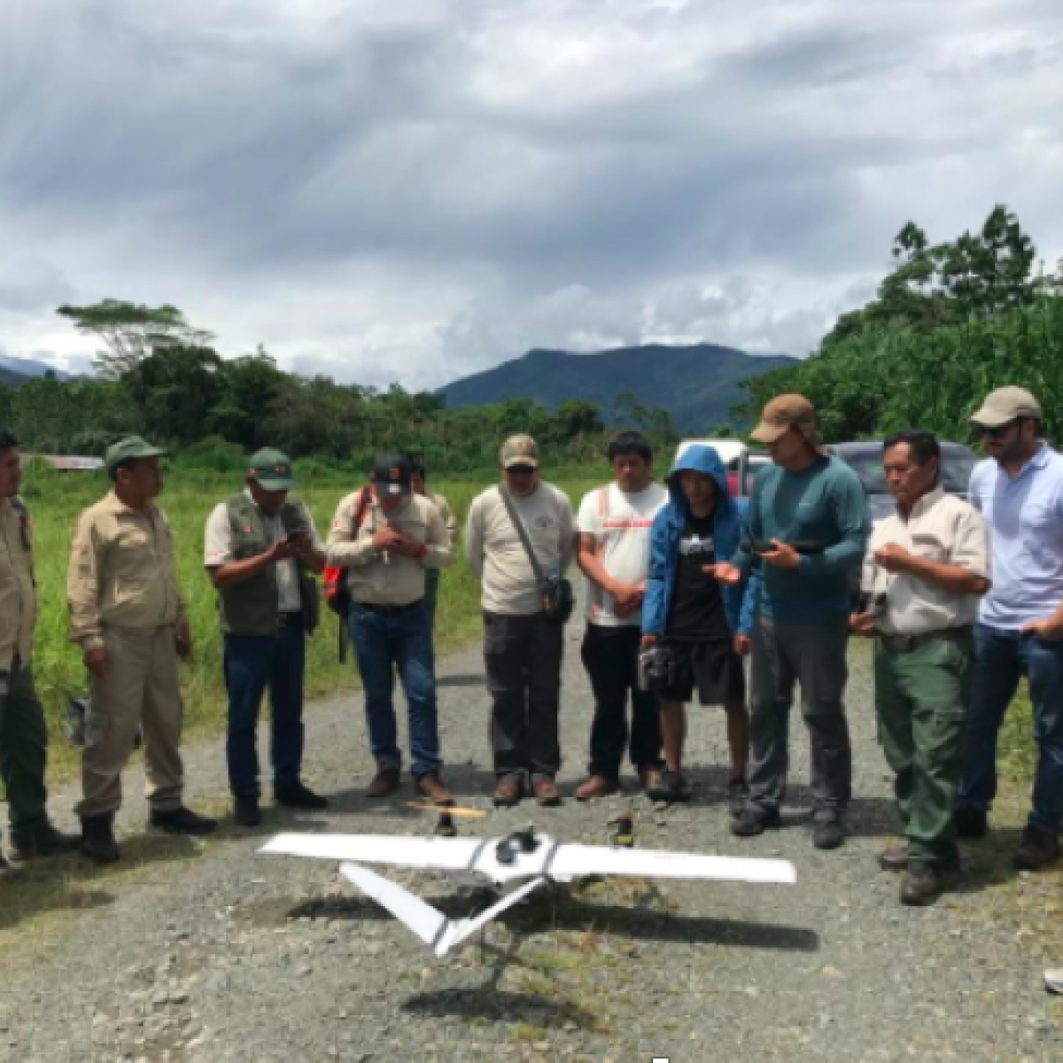
<path fill-rule="evenodd" d="M 989 830 L 997 732 L 1019 679 L 1029 682 L 1040 746 L 1032 809 L 1014 856 L 1024 871 L 1059 860 L 1063 824 L 1063 456 L 1041 438 L 1041 404 L 999 388 L 972 418 L 989 459 L 971 476 L 971 502 L 990 530 L 993 587 L 975 626 L 975 665 L 961 838 Z"/>

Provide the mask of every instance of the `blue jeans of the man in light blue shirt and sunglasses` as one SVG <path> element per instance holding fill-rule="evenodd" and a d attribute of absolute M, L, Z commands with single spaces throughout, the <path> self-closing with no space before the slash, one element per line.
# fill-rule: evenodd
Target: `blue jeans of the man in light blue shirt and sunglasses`
<path fill-rule="evenodd" d="M 997 732 L 1019 679 L 1033 703 L 1033 738 L 1040 746 L 1030 826 L 1053 834 L 1063 825 L 1063 642 L 1035 635 L 975 627 L 971 713 L 958 806 L 989 811 L 996 796 Z"/>

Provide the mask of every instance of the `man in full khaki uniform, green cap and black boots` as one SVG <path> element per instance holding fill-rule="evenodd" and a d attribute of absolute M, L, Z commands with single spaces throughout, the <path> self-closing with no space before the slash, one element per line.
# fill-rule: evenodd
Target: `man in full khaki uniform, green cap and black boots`
<path fill-rule="evenodd" d="M 190 653 L 191 640 L 170 525 L 154 503 L 163 490 L 163 453 L 138 436 L 107 450 L 114 489 L 81 514 L 70 556 L 70 641 L 81 646 L 92 686 L 78 814 L 82 851 L 98 863 L 118 859 L 115 813 L 137 727 L 151 825 L 187 834 L 217 826 L 182 804 L 178 654 Z"/>

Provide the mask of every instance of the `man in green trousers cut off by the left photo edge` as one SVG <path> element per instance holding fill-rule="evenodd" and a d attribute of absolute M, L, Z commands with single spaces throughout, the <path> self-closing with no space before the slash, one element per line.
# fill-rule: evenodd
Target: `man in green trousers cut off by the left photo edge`
<path fill-rule="evenodd" d="M 37 596 L 30 514 L 18 497 L 18 440 L 0 431 L 0 776 L 7 791 L 15 860 L 75 848 L 78 840 L 48 821 L 47 730 L 30 662 Z M 14 872 L 0 854 L 0 879 Z"/>

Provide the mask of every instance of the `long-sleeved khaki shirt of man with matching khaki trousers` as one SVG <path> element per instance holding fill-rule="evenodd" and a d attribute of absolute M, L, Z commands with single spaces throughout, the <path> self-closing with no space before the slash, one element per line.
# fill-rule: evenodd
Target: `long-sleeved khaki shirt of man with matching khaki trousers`
<path fill-rule="evenodd" d="M 78 520 L 67 576 L 70 641 L 90 649 L 105 627 L 154 629 L 184 620 L 173 537 L 154 503 L 131 509 L 112 491 Z"/>

